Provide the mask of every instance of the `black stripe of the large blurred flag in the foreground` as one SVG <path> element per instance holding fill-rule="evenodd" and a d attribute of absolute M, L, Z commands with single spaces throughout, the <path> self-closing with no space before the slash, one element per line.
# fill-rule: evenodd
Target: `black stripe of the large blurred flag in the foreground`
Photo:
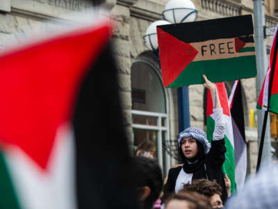
<path fill-rule="evenodd" d="M 137 209 L 110 46 L 90 66 L 81 85 L 73 125 L 78 208 Z"/>

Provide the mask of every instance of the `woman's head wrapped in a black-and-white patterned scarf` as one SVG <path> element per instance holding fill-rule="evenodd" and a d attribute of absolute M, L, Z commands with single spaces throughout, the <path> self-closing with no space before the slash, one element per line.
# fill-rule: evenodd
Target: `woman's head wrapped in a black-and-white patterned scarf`
<path fill-rule="evenodd" d="M 188 127 L 179 134 L 179 153 L 183 160 L 197 160 L 211 148 L 206 132 L 198 127 Z"/>

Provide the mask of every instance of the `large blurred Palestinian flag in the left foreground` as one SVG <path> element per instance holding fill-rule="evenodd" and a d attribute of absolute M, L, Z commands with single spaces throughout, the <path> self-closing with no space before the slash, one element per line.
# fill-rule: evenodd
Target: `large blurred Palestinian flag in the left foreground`
<path fill-rule="evenodd" d="M 0 208 L 137 208 L 111 22 L 0 56 Z"/>

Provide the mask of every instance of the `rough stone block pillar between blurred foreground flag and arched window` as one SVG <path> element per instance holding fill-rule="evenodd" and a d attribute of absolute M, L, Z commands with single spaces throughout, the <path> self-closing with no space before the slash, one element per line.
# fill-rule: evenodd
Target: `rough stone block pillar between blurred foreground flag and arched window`
<path fill-rule="evenodd" d="M 116 6 L 111 11 L 115 20 L 116 29 L 113 33 L 113 55 L 117 61 L 118 88 L 122 102 L 124 127 L 126 136 L 132 146 L 132 116 L 131 116 L 131 41 L 129 34 L 130 7 L 137 0 L 117 0 Z"/>

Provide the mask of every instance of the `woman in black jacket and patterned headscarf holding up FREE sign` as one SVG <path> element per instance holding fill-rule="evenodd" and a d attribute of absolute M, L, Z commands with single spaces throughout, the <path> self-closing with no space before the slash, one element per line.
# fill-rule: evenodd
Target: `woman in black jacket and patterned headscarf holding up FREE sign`
<path fill-rule="evenodd" d="M 183 160 L 183 166 L 170 169 L 167 183 L 163 189 L 162 202 L 172 194 L 183 189 L 183 185 L 191 183 L 194 179 L 205 178 L 216 180 L 222 187 L 222 201 L 227 199 L 227 188 L 222 172 L 222 164 L 225 161 L 224 143 L 224 116 L 218 91 L 212 82 L 203 75 L 204 87 L 211 91 L 213 100 L 213 112 L 215 114 L 215 130 L 211 144 L 206 139 L 206 132 L 198 127 L 188 127 L 179 134 L 179 153 Z"/>

